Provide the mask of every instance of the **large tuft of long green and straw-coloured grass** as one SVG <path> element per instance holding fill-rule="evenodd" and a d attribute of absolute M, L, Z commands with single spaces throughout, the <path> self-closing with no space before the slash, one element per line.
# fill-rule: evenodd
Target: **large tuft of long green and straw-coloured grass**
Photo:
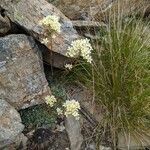
<path fill-rule="evenodd" d="M 92 64 L 80 61 L 70 73 L 104 109 L 100 124 L 109 127 L 114 149 L 118 133 L 139 140 L 150 131 L 149 36 L 149 25 L 142 20 L 114 16 L 92 42 Z"/>

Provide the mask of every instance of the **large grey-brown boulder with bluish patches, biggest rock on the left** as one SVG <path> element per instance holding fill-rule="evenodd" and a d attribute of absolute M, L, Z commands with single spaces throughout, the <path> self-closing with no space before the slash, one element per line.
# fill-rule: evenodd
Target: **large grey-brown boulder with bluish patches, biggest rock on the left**
<path fill-rule="evenodd" d="M 0 47 L 0 98 L 17 109 L 42 103 L 50 89 L 34 39 L 9 35 Z"/>

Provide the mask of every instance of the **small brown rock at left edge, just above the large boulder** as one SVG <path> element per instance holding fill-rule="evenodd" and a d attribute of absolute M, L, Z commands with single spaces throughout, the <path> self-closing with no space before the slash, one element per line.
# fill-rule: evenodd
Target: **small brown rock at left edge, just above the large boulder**
<path fill-rule="evenodd" d="M 0 35 L 5 35 L 10 29 L 11 25 L 9 19 L 0 15 Z"/>

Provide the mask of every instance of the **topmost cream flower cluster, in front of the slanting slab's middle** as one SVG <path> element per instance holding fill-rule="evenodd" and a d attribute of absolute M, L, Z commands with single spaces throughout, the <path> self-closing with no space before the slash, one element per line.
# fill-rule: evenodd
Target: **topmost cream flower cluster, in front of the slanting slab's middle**
<path fill-rule="evenodd" d="M 40 21 L 40 25 L 48 28 L 50 31 L 55 31 L 60 33 L 61 24 L 59 23 L 59 18 L 55 15 L 48 15 Z"/>

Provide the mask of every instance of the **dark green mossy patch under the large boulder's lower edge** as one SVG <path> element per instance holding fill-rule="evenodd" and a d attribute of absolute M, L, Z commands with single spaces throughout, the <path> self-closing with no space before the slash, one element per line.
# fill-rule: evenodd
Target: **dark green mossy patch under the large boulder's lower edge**
<path fill-rule="evenodd" d="M 19 111 L 26 128 L 51 127 L 57 118 L 56 112 L 46 104 L 32 106 Z"/>

